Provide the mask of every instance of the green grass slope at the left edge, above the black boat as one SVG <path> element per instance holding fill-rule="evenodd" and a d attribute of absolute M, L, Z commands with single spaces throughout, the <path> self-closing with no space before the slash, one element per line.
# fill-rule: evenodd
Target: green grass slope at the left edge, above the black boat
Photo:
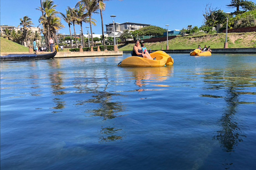
<path fill-rule="evenodd" d="M 13 43 L 10 40 L 7 40 L 1 37 L 1 53 L 15 53 L 15 52 L 28 52 L 28 47 L 24 47 L 17 43 Z"/>

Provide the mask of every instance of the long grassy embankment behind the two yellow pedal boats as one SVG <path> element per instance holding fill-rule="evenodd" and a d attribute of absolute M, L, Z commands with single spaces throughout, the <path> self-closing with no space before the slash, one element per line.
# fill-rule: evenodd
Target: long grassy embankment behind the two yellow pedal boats
<path fill-rule="evenodd" d="M 255 48 L 256 32 L 228 33 L 228 48 Z M 198 45 L 211 46 L 211 48 L 223 48 L 226 41 L 226 33 L 213 35 L 198 35 L 177 37 L 169 40 L 169 49 L 195 49 Z M 132 50 L 134 44 L 126 45 L 119 50 Z M 145 43 L 147 49 L 166 49 L 166 41 L 156 43 Z"/>

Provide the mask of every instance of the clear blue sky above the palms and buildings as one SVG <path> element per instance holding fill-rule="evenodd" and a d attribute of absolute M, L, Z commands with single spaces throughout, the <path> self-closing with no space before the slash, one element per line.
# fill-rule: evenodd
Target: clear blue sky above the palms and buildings
<path fill-rule="evenodd" d="M 234 12 L 235 8 L 229 8 L 231 0 L 110 0 L 106 1 L 106 10 L 103 12 L 104 24 L 112 23 L 110 15 L 116 15 L 115 22 L 134 22 L 155 25 L 169 30 L 192 27 L 201 27 L 204 21 L 203 13 L 206 4 L 211 4 L 212 8 L 218 8 L 224 12 Z M 78 0 L 53 0 L 57 4 L 57 11 L 65 13 L 67 6 L 75 7 Z M 253 0 L 255 2 L 255 0 Z M 1 0 L 1 25 L 13 25 L 18 27 L 20 18 L 28 16 L 32 19 L 34 27 L 39 25 L 38 19 L 41 12 L 36 10 L 40 6 L 40 0 Z M 92 31 L 101 34 L 100 14 L 93 14 L 93 19 L 97 20 L 97 26 L 93 26 Z M 65 28 L 60 33 L 69 34 L 68 24 L 62 22 Z M 87 23 L 83 23 L 84 33 Z M 106 27 L 104 26 L 106 31 Z M 73 33 L 73 26 L 71 32 Z M 76 26 L 79 33 L 80 27 Z"/>

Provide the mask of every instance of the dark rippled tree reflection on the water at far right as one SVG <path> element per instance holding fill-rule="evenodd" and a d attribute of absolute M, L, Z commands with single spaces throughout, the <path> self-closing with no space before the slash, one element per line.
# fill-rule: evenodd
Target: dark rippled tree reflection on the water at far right
<path fill-rule="evenodd" d="M 229 74 L 229 72 L 227 72 Z M 239 129 L 238 123 L 235 122 L 233 116 L 237 112 L 237 107 L 240 104 L 238 100 L 239 92 L 237 92 L 237 87 L 242 88 L 243 84 L 250 84 L 251 74 L 246 72 L 234 72 L 230 71 L 230 74 L 227 76 L 221 72 L 207 72 L 205 79 L 206 83 L 210 83 L 211 86 L 207 89 L 219 90 L 227 87 L 227 96 L 225 101 L 227 107 L 223 116 L 220 119 L 222 130 L 218 131 L 218 134 L 214 137 L 219 140 L 226 151 L 233 151 L 234 147 L 238 142 L 242 142 L 243 138 L 246 137 L 242 134 Z M 225 81 L 221 81 L 225 79 Z M 209 81 L 213 80 L 213 81 Z M 215 81 L 218 80 L 218 81 Z M 217 85 L 215 83 L 218 83 Z M 212 95 L 202 95 L 203 97 L 213 97 L 220 98 L 218 96 Z"/>

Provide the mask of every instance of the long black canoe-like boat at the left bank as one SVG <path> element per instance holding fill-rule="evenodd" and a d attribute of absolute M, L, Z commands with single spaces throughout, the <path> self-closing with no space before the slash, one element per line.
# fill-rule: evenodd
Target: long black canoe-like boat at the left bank
<path fill-rule="evenodd" d="M 53 53 L 31 53 L 31 54 L 8 54 L 1 56 L 1 61 L 18 61 L 18 60 L 45 60 L 53 58 L 57 54 L 57 51 Z"/>

